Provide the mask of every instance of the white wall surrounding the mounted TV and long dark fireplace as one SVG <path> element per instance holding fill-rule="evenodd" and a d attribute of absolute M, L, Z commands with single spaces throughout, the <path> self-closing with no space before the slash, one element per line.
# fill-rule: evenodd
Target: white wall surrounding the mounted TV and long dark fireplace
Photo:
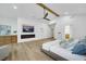
<path fill-rule="evenodd" d="M 35 26 L 35 33 L 23 33 L 22 31 L 22 25 L 33 25 Z M 26 39 L 21 39 L 21 35 L 29 35 L 29 34 L 35 34 L 35 38 L 26 38 Z M 17 18 L 17 42 L 23 42 L 23 41 L 30 41 L 30 40 L 35 40 L 35 39 L 42 39 L 42 38 L 50 38 L 52 37 L 51 35 L 51 29 L 50 27 L 45 24 L 45 23 L 40 23 L 36 20 L 32 20 L 32 18 Z"/>

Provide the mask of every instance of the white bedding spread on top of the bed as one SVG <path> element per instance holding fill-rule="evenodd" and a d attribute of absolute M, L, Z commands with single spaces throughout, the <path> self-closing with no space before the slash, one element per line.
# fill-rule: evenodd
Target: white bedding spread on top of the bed
<path fill-rule="evenodd" d="M 59 41 L 60 40 L 44 43 L 42 49 L 50 51 L 52 53 L 56 53 L 60 55 L 61 57 L 70 60 L 70 61 L 85 61 L 86 60 L 85 55 L 73 54 L 71 50 L 61 48 L 59 44 Z"/>

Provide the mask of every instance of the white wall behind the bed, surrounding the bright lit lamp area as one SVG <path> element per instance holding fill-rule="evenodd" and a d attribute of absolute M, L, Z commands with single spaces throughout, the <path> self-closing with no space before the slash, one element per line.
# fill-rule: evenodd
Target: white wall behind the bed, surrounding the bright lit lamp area
<path fill-rule="evenodd" d="M 64 38 L 64 26 L 70 25 L 72 38 L 83 38 L 86 36 L 86 16 L 60 17 L 54 27 L 54 38 Z M 59 34 L 61 33 L 61 34 Z"/>

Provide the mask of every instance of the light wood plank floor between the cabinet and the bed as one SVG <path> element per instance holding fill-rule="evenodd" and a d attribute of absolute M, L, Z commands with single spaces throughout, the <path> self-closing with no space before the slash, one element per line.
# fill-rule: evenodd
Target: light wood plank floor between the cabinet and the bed
<path fill-rule="evenodd" d="M 53 61 L 40 50 L 42 43 L 52 40 L 53 39 L 50 38 L 39 41 L 11 44 L 12 52 L 5 61 Z"/>

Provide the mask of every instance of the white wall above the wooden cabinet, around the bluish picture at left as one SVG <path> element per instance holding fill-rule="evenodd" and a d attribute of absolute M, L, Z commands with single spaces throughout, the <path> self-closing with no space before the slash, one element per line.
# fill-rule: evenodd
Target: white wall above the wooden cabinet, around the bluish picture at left
<path fill-rule="evenodd" d="M 11 35 L 15 35 L 13 31 L 17 30 L 17 20 L 0 18 L 0 25 L 11 26 Z"/>

